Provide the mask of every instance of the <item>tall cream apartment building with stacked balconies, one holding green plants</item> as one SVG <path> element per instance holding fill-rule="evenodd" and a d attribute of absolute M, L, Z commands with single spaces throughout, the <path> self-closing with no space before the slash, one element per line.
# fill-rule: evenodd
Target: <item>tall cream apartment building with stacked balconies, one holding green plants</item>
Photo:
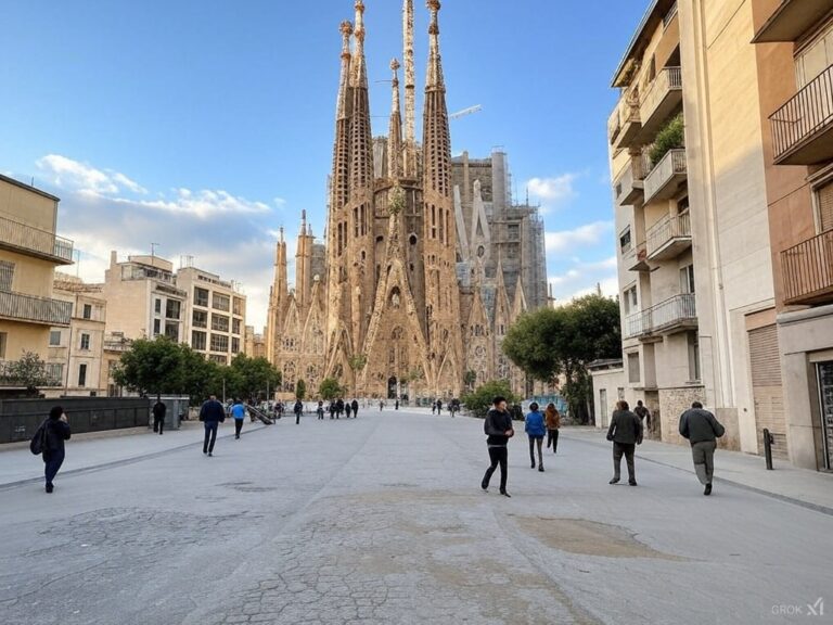
<path fill-rule="evenodd" d="M 701 400 L 786 458 L 752 4 L 654 0 L 614 76 L 624 395 L 664 441 Z"/>

